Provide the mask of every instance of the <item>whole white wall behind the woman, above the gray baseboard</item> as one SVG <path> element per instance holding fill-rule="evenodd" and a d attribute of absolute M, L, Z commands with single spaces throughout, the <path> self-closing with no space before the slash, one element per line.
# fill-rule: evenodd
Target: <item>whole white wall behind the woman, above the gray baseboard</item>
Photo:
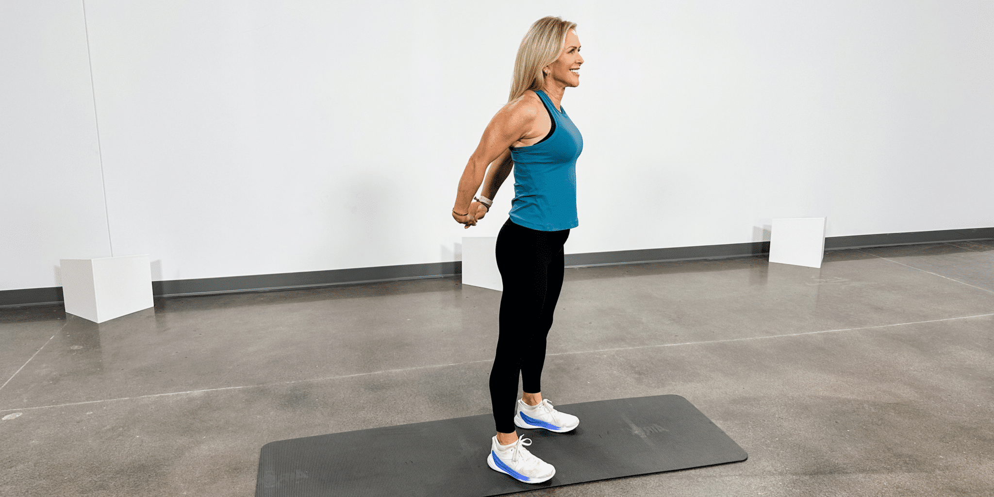
<path fill-rule="evenodd" d="M 457 260 L 459 176 L 535 20 L 579 23 L 568 253 L 994 226 L 994 3 L 0 4 L 0 289 Z"/>

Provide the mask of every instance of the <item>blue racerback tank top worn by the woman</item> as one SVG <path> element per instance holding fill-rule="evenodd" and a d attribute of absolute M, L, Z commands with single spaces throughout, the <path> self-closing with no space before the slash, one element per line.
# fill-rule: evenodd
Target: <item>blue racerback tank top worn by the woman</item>
<path fill-rule="evenodd" d="M 566 108 L 558 110 L 545 91 L 535 92 L 542 98 L 553 125 L 542 141 L 510 147 L 514 160 L 511 220 L 542 232 L 577 228 L 577 158 L 583 150 L 583 137 Z"/>

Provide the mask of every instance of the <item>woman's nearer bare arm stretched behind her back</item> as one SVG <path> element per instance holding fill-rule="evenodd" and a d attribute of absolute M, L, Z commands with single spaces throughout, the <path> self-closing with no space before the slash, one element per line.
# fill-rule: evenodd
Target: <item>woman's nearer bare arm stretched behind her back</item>
<path fill-rule="evenodd" d="M 497 163 L 497 166 L 503 167 L 491 168 L 493 176 L 490 177 L 483 193 L 483 195 L 496 194 L 497 189 L 500 188 L 510 172 L 507 164 L 511 151 L 508 147 L 531 130 L 537 114 L 536 108 L 530 102 L 519 98 L 509 102 L 494 115 L 493 119 L 490 119 L 490 123 L 483 131 L 483 137 L 480 138 L 479 145 L 477 145 L 473 155 L 469 157 L 469 162 L 466 163 L 466 168 L 462 171 L 462 177 L 459 178 L 459 189 L 456 193 L 455 205 L 452 207 L 452 210 L 455 211 L 454 214 L 469 212 L 469 204 L 473 200 L 473 195 L 479 190 L 480 184 L 483 183 L 487 167 L 496 162 L 497 159 L 504 157 L 501 162 Z M 488 196 L 487 198 L 492 199 L 493 197 Z"/>

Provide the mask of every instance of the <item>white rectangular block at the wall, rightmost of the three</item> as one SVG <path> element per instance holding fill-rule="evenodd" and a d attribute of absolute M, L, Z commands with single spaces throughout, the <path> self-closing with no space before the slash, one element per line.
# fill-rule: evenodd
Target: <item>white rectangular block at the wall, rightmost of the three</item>
<path fill-rule="evenodd" d="M 769 261 L 821 267 L 825 255 L 825 218 L 774 219 Z"/>

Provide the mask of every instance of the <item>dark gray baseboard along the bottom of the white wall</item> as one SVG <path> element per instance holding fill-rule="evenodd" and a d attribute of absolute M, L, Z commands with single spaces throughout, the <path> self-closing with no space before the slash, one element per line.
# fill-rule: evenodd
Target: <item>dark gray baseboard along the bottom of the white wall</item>
<path fill-rule="evenodd" d="M 888 233 L 856 235 L 825 239 L 826 250 L 847 248 L 889 247 L 940 242 L 962 242 L 994 239 L 994 228 L 971 230 L 940 230 L 934 232 Z M 568 253 L 567 267 L 672 260 L 714 259 L 743 257 L 769 253 L 769 242 L 727 244 L 701 247 L 646 248 L 642 250 L 617 250 L 588 253 Z M 249 293 L 260 291 L 313 288 L 342 284 L 401 281 L 409 279 L 455 277 L 462 273 L 462 262 L 429 262 L 423 264 L 384 265 L 376 267 L 351 267 L 323 271 L 284 272 L 279 274 L 253 274 L 217 278 L 173 279 L 152 281 L 152 294 L 156 297 L 179 297 L 221 293 Z M 36 305 L 62 305 L 61 286 L 0 290 L 0 308 Z"/>

